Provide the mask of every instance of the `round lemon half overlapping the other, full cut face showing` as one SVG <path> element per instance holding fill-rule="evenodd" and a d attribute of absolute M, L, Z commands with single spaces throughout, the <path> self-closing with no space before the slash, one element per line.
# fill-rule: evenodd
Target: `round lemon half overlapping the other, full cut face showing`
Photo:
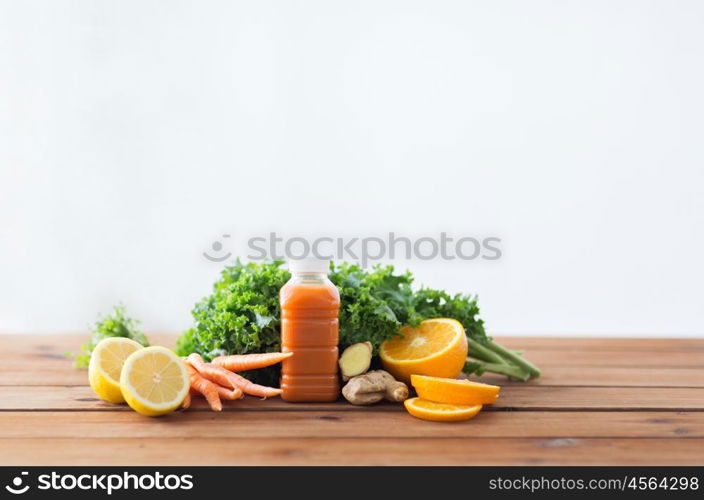
<path fill-rule="evenodd" d="M 189 389 L 183 360 L 166 347 L 145 347 L 122 367 L 120 388 L 125 401 L 142 415 L 157 417 L 181 406 Z"/>

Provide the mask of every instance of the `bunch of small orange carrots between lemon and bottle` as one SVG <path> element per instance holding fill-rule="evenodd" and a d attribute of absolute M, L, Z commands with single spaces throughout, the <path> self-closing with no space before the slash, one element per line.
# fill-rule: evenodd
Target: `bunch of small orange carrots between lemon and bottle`
<path fill-rule="evenodd" d="M 291 356 L 291 352 L 267 352 L 258 354 L 235 354 L 218 356 L 206 363 L 198 353 L 192 353 L 186 362 L 191 379 L 191 390 L 182 407 L 191 406 L 191 396 L 202 394 L 213 411 L 222 411 L 222 399 L 234 401 L 245 394 L 270 398 L 281 394 L 281 389 L 255 384 L 235 372 L 275 365 Z"/>

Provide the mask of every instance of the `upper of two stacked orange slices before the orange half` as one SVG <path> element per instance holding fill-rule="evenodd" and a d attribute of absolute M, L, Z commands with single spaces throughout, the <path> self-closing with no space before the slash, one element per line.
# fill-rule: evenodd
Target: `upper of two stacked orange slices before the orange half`
<path fill-rule="evenodd" d="M 424 375 L 411 375 L 411 384 L 423 399 L 470 406 L 494 403 L 501 389 L 498 385 Z"/>

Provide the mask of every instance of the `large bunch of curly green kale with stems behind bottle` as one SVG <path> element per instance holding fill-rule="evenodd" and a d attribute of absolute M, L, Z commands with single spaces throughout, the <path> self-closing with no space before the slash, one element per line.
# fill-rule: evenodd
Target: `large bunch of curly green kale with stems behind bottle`
<path fill-rule="evenodd" d="M 213 293 L 193 308 L 194 326 L 177 341 L 180 355 L 198 352 L 206 359 L 220 354 L 246 354 L 280 350 L 279 289 L 290 274 L 283 262 L 226 267 Z M 465 328 L 470 354 L 466 373 L 494 372 L 527 380 L 539 370 L 520 355 L 494 343 L 478 318 L 475 296 L 451 295 L 422 287 L 414 290 L 410 272 L 395 274 L 393 266 L 371 271 L 356 264 L 331 266 L 330 280 L 340 291 L 340 347 L 370 341 L 374 352 L 398 335 L 404 324 L 416 325 L 426 318 L 455 318 Z M 474 347 L 472 347 L 474 346 Z M 476 352 L 475 352 L 476 351 Z M 277 384 L 279 368 L 245 373 L 258 383 Z"/>

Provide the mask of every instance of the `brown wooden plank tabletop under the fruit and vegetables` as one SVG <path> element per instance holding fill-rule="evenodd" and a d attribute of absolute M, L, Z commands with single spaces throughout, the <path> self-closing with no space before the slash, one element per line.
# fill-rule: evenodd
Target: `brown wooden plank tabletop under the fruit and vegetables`
<path fill-rule="evenodd" d="M 482 377 L 496 404 L 435 423 L 254 398 L 150 419 L 95 397 L 64 357 L 85 338 L 0 335 L 1 465 L 704 464 L 704 339 L 498 339 L 543 377 Z"/>

